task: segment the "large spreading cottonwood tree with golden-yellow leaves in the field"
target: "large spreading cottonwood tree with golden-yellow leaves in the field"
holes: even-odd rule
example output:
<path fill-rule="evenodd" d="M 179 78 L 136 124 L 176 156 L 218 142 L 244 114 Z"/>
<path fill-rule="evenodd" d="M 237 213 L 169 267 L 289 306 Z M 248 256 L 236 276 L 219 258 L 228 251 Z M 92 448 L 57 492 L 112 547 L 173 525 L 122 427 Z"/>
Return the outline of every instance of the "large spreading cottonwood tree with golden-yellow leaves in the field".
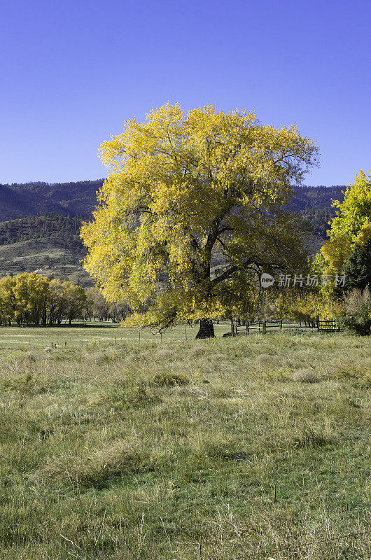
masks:
<path fill-rule="evenodd" d="M 85 269 L 137 311 L 130 324 L 200 320 L 199 336 L 213 335 L 211 318 L 248 311 L 253 271 L 302 261 L 285 209 L 317 153 L 295 126 L 253 112 L 166 104 L 129 120 L 101 148 L 110 174 L 82 228 Z"/>

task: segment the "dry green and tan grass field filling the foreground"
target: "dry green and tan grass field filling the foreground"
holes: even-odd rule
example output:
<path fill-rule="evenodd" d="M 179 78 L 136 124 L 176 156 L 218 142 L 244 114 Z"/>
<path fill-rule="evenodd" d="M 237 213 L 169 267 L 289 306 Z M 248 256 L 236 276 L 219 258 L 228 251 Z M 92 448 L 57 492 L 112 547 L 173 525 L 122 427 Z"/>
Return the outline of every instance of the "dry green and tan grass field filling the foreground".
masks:
<path fill-rule="evenodd" d="M 0 559 L 370 558 L 370 338 L 3 343 L 0 360 Z"/>

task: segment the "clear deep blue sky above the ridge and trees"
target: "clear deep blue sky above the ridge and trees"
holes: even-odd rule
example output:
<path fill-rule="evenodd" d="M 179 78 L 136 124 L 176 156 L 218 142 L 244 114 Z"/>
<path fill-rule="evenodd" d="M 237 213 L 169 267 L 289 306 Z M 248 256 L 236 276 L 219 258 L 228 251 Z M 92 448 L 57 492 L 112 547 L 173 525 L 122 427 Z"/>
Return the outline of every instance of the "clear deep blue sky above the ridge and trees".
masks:
<path fill-rule="evenodd" d="M 1 7 L 0 183 L 106 176 L 153 106 L 255 109 L 318 141 L 312 185 L 371 168 L 369 0 L 13 0 Z"/>

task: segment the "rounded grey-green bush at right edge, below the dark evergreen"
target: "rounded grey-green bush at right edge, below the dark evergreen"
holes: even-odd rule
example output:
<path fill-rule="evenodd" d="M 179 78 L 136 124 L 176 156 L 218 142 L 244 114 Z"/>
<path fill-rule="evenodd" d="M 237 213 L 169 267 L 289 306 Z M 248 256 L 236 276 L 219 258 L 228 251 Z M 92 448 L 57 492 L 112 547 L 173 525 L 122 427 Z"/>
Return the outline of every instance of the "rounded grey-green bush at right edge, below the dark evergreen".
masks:
<path fill-rule="evenodd" d="M 371 331 L 371 292 L 353 289 L 344 299 L 339 323 L 356 335 L 370 335 Z"/>

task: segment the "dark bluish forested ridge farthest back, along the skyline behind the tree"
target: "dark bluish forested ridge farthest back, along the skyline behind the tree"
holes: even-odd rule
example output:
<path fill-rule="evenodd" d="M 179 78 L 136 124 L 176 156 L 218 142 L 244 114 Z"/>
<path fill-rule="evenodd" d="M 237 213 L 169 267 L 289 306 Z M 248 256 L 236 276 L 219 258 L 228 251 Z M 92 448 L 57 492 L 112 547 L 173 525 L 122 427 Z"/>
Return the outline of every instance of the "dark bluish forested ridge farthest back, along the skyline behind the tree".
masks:
<path fill-rule="evenodd" d="M 0 221 L 54 212 L 62 216 L 88 216 L 97 202 L 103 179 L 76 183 L 13 183 L 0 185 Z M 331 199 L 342 200 L 345 186 L 297 187 L 291 209 L 314 212 L 329 209 Z"/>

